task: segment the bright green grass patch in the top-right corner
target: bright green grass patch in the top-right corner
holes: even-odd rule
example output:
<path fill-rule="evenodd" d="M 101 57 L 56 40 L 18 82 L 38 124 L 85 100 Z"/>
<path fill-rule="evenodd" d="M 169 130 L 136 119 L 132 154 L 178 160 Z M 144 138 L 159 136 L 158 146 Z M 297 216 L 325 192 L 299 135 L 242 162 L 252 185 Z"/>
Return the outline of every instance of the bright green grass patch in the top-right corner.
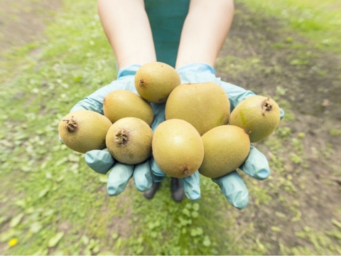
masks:
<path fill-rule="evenodd" d="M 300 33 L 315 47 L 341 53 L 341 3 L 337 0 L 237 0 L 250 11 L 277 18 L 287 31 Z M 293 43 L 293 38 L 286 42 Z M 277 45 L 280 47 L 280 45 Z"/>

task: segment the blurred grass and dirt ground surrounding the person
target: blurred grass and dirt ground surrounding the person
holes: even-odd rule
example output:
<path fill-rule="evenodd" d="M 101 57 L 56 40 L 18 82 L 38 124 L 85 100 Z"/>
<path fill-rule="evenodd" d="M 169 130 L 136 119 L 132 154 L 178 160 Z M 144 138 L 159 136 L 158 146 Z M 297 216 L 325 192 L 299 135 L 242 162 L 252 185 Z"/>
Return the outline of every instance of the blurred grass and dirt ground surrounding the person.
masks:
<path fill-rule="evenodd" d="M 255 144 L 271 176 L 242 174 L 237 210 L 202 177 L 175 203 L 170 179 L 147 201 L 58 141 L 76 102 L 117 75 L 96 1 L 0 1 L 1 255 L 340 255 L 341 2 L 236 0 L 217 60 L 226 82 L 286 112 Z"/>

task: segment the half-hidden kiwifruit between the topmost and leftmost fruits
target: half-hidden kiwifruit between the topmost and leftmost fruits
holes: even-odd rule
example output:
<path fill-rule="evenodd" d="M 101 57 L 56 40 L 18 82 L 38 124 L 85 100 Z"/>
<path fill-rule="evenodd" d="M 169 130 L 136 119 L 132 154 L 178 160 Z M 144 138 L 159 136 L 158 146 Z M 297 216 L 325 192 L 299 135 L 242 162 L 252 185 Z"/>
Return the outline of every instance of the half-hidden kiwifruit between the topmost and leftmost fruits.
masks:
<path fill-rule="evenodd" d="M 104 115 L 112 123 L 124 117 L 136 117 L 148 125 L 153 122 L 153 108 L 139 95 L 128 90 L 115 90 L 104 98 Z"/>

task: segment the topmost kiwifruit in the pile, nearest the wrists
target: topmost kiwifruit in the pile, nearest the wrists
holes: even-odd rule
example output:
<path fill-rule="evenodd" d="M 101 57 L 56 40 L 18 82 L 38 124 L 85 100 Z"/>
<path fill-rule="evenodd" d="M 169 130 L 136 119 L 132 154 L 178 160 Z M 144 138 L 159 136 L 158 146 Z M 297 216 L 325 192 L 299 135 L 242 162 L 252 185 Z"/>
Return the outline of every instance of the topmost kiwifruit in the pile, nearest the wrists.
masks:
<path fill-rule="evenodd" d="M 135 87 L 139 95 L 154 103 L 166 102 L 171 91 L 180 85 L 180 75 L 166 63 L 146 63 L 137 70 Z"/>

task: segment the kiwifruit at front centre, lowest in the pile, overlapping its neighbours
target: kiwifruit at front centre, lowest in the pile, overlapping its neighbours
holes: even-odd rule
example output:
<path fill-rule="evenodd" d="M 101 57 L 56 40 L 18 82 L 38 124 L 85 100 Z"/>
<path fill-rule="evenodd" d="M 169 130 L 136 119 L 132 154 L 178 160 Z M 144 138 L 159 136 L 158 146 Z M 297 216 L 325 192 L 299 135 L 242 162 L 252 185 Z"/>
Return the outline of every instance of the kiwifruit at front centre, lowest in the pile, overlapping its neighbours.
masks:
<path fill-rule="evenodd" d="M 200 134 L 192 124 L 171 119 L 156 127 L 153 156 L 158 167 L 167 175 L 185 178 L 199 168 L 204 158 Z"/>

